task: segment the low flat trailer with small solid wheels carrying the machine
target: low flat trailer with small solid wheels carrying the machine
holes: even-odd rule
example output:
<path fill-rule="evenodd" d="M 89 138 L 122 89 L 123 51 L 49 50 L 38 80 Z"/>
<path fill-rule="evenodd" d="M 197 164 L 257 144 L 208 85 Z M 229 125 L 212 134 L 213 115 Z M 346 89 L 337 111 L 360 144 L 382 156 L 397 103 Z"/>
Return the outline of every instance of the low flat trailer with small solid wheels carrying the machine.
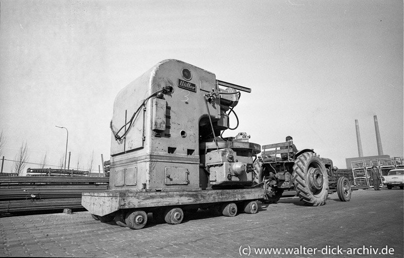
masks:
<path fill-rule="evenodd" d="M 91 207 L 93 218 L 115 222 L 132 229 L 143 228 L 147 213 L 158 223 L 179 224 L 184 212 L 210 209 L 217 215 L 233 217 L 237 212 L 255 214 L 256 200 L 263 199 L 262 187 L 221 190 L 109 191 L 83 193 L 82 205 Z M 95 205 L 94 205 L 95 204 Z M 98 214 L 98 215 L 95 215 Z"/>

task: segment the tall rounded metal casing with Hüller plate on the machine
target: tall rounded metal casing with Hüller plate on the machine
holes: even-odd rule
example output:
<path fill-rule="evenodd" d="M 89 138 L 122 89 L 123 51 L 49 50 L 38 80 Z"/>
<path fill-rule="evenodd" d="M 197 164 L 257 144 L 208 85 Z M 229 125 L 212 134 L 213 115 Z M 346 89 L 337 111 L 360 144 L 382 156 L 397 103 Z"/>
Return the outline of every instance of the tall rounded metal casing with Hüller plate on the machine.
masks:
<path fill-rule="evenodd" d="M 112 127 L 117 131 L 145 99 L 167 87 L 173 91 L 149 98 L 122 130 L 128 132 L 121 141 L 112 135 L 110 189 L 208 186 L 209 171 L 200 168 L 200 131 L 211 129 L 209 114 L 215 130 L 228 128 L 226 111 L 238 100 L 228 94 L 207 102 L 204 95 L 219 90 L 215 74 L 179 60 L 159 62 L 118 93 Z M 240 180 L 252 182 L 245 173 L 230 181 Z"/>

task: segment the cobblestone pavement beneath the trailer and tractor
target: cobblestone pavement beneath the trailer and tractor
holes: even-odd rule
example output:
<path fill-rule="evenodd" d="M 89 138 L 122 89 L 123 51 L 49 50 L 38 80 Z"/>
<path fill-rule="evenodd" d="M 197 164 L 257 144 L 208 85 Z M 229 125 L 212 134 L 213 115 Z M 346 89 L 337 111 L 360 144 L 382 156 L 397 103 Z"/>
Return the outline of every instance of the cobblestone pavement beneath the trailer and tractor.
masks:
<path fill-rule="evenodd" d="M 321 207 L 283 198 L 254 215 L 199 210 L 178 225 L 156 224 L 149 214 L 141 230 L 95 221 L 88 212 L 5 217 L 0 256 L 403 257 L 403 193 L 356 190 L 350 202 L 333 193 Z"/>

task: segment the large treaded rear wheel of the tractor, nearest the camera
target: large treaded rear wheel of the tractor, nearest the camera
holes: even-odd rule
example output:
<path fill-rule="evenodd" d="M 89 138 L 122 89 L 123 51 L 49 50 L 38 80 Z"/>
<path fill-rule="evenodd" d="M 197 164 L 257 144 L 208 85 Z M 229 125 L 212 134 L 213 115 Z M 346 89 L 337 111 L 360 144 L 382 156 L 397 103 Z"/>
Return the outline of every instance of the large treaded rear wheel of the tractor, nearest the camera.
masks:
<path fill-rule="evenodd" d="M 328 197 L 328 174 L 321 159 L 313 152 L 297 157 L 293 165 L 294 189 L 300 201 L 310 206 L 324 205 Z"/>

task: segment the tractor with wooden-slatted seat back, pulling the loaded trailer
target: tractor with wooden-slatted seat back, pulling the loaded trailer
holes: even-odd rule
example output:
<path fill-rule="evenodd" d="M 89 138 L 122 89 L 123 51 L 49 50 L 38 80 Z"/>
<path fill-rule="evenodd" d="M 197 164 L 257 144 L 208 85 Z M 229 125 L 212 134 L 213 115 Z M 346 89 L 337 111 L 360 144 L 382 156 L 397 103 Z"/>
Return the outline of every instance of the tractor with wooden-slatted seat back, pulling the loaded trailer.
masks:
<path fill-rule="evenodd" d="M 264 145 L 254 162 L 256 183 L 265 188 L 264 203 L 278 202 L 285 189 L 295 189 L 309 206 L 324 205 L 328 194 L 335 191 L 341 201 L 350 200 L 350 182 L 335 176 L 338 168 L 331 159 L 320 158 L 312 149 L 294 152 L 292 146 L 291 141 Z"/>

